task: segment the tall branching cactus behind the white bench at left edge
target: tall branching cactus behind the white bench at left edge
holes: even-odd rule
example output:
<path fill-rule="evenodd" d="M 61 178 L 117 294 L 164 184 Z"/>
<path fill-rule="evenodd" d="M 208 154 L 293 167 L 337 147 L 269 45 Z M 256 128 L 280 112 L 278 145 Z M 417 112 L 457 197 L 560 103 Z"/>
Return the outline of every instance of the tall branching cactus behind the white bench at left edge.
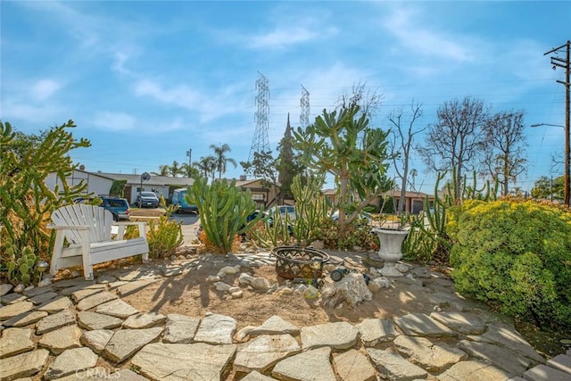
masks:
<path fill-rule="evenodd" d="M 86 182 L 70 186 L 66 181 L 79 165 L 71 162 L 70 151 L 90 145 L 85 139 L 75 140 L 67 131 L 74 127 L 69 120 L 39 137 L 24 137 L 13 131 L 10 123 L 0 121 L 0 224 L 3 241 L 9 238 L 17 252 L 30 246 L 38 255 L 49 255 L 55 236 L 46 229 L 51 212 L 87 189 Z M 50 174 L 57 178 L 54 190 L 46 185 Z M 4 254 L 1 245 L 2 261 L 10 258 Z"/>

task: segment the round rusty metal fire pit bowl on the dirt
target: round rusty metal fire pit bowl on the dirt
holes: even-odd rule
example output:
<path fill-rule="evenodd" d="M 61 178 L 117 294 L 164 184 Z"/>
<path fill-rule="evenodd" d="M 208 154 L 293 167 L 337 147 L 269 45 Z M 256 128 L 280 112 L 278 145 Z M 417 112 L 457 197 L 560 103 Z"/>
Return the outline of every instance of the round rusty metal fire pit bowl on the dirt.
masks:
<path fill-rule="evenodd" d="M 278 246 L 271 249 L 276 256 L 276 272 L 285 279 L 321 277 L 329 255 L 310 247 Z"/>

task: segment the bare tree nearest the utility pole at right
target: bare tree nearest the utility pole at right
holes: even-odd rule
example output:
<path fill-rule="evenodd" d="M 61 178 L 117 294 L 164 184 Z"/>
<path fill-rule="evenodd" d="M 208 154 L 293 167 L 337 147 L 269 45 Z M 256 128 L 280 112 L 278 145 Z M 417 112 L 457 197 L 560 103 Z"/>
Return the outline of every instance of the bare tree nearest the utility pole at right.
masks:
<path fill-rule="evenodd" d="M 509 194 L 510 182 L 525 171 L 524 112 L 498 112 L 484 124 L 484 173 Z"/>

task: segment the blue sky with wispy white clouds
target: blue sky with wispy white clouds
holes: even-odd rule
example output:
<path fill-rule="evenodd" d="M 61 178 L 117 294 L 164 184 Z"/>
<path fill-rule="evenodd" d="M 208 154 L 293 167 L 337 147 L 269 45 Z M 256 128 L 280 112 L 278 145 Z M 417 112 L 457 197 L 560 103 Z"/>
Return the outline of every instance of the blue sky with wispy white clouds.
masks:
<path fill-rule="evenodd" d="M 269 145 L 287 113 L 310 121 L 365 83 L 383 96 L 371 126 L 421 104 L 418 128 L 444 102 L 471 96 L 492 112 L 525 112 L 525 125 L 565 123 L 564 70 L 543 54 L 571 38 L 571 2 L 4 1 L 0 119 L 26 133 L 78 125 L 92 143 L 72 152 L 86 170 L 157 171 L 228 144 L 248 159 L 256 80 L 269 79 Z M 530 189 L 563 155 L 563 129 L 526 127 Z M 422 143 L 422 137 L 418 137 Z M 434 173 L 417 155 L 415 185 Z M 229 167 L 227 177 L 242 168 Z"/>

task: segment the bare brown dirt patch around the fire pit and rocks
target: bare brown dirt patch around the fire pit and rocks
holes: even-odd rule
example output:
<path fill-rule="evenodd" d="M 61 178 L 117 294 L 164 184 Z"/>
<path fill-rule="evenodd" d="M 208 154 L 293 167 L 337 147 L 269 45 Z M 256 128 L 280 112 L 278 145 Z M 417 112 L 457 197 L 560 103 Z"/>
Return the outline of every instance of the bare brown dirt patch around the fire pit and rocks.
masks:
<path fill-rule="evenodd" d="M 391 319 L 408 312 L 431 311 L 431 304 L 405 292 L 396 286 L 373 294 L 371 302 L 361 303 L 357 308 L 343 307 L 325 310 L 315 300 L 308 300 L 299 292 L 266 294 L 242 287 L 244 296 L 232 299 L 228 293 L 217 291 L 206 278 L 216 275 L 224 266 L 204 266 L 186 275 L 165 278 L 145 287 L 124 300 L 140 311 L 157 311 L 163 315 L 181 313 L 202 317 L 207 311 L 231 316 L 238 322 L 238 329 L 248 325 L 259 326 L 266 319 L 278 315 L 282 319 L 303 327 L 334 321 L 360 322 L 367 318 Z M 275 266 L 246 269 L 254 277 L 264 277 L 269 283 L 284 285 L 286 279 L 277 277 Z M 239 274 L 224 277 L 228 285 L 238 286 Z"/>

